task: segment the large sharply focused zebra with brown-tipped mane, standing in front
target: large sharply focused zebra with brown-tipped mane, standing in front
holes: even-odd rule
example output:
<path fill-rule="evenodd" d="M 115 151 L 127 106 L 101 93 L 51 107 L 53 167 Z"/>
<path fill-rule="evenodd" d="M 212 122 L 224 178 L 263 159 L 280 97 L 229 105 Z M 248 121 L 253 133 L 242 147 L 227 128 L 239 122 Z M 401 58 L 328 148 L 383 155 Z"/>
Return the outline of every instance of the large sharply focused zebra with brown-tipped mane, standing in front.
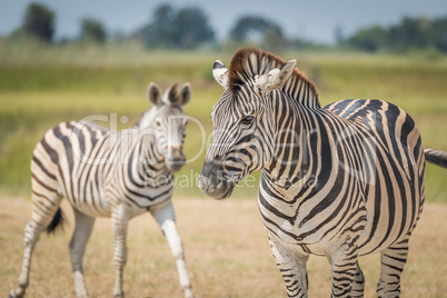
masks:
<path fill-rule="evenodd" d="M 413 119 L 380 100 L 321 108 L 315 85 L 271 53 L 247 48 L 229 69 L 212 109 L 212 140 L 200 173 L 213 198 L 261 170 L 259 211 L 289 297 L 307 297 L 309 255 L 331 265 L 331 297 L 362 297 L 358 257 L 380 252 L 379 297 L 398 297 L 408 239 L 424 205 L 424 149 Z"/>

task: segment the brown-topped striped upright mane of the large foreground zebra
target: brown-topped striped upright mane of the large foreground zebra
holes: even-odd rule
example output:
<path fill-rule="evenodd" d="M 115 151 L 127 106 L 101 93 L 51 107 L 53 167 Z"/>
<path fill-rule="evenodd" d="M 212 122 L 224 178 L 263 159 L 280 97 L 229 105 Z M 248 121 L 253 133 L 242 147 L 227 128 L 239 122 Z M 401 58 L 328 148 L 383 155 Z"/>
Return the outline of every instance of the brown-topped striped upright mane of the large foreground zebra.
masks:
<path fill-rule="evenodd" d="M 244 48 L 235 53 L 228 69 L 228 88 L 231 92 L 240 85 L 286 63 L 281 58 L 257 48 Z M 304 88 L 305 87 L 305 88 Z M 281 90 L 304 106 L 319 108 L 317 87 L 297 68 Z"/>

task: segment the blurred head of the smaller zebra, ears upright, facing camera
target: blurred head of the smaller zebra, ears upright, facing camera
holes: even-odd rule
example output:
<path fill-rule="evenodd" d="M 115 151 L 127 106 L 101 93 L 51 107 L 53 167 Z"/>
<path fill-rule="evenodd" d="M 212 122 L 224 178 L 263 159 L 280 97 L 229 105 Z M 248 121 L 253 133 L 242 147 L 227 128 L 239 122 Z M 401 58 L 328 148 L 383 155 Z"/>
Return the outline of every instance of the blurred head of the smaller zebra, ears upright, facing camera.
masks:
<path fill-rule="evenodd" d="M 140 119 L 140 129 L 150 128 L 156 138 L 156 150 L 165 157 L 168 169 L 178 171 L 185 165 L 182 152 L 187 118 L 182 107 L 191 99 L 192 90 L 185 83 L 180 90 L 177 83 L 161 93 L 160 88 L 151 82 L 148 87 L 148 99 L 152 103 Z"/>

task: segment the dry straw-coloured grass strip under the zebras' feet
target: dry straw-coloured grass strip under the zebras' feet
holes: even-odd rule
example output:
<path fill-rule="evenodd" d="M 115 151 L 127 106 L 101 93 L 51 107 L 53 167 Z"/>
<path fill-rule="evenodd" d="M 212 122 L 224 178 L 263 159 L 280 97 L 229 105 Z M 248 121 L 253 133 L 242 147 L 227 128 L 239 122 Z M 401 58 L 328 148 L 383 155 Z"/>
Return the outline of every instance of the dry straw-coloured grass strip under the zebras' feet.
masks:
<path fill-rule="evenodd" d="M 270 256 L 257 201 L 175 199 L 179 230 L 197 297 L 284 297 L 281 277 Z M 42 236 L 36 249 L 28 297 L 72 297 L 66 234 Z M 16 286 L 21 264 L 23 227 L 31 203 L 23 198 L 0 197 L 0 296 Z M 181 297 L 175 261 L 150 216 L 130 222 L 129 260 L 125 274 L 127 297 Z M 446 297 L 447 206 L 427 203 L 410 241 L 410 257 L 403 277 L 403 297 Z M 112 237 L 109 219 L 98 219 L 89 241 L 85 271 L 92 297 L 110 297 L 113 285 Z M 360 259 L 366 276 L 365 297 L 375 297 L 379 258 Z M 327 260 L 308 264 L 310 297 L 329 297 Z"/>

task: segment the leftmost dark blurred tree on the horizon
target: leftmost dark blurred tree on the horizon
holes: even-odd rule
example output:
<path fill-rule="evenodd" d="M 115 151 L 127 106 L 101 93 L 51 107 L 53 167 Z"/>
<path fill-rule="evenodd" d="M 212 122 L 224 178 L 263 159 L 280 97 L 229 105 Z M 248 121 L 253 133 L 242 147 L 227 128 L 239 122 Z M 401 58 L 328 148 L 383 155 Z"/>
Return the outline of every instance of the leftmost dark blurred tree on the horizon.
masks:
<path fill-rule="evenodd" d="M 43 4 L 30 3 L 24 13 L 22 31 L 27 36 L 51 42 L 54 34 L 54 13 Z"/>

